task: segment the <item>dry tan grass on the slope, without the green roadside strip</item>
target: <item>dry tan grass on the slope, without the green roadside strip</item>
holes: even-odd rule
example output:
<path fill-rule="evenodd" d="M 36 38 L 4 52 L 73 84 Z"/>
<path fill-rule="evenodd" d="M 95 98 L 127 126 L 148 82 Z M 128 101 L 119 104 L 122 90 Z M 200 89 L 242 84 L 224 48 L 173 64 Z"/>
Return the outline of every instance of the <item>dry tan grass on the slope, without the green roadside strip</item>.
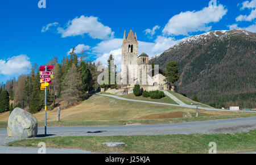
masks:
<path fill-rule="evenodd" d="M 64 105 L 64 103 L 61 103 Z M 88 100 L 68 109 L 61 110 L 62 121 L 106 121 L 138 119 L 171 119 L 182 117 L 184 112 L 193 116 L 195 109 L 172 107 L 170 105 L 137 103 L 93 95 Z M 218 112 L 199 110 L 201 116 L 225 116 L 242 112 Z M 10 113 L 0 114 L 0 121 L 8 121 Z M 44 121 L 44 111 L 34 114 L 38 121 Z M 47 111 L 47 121 L 56 121 L 57 108 Z"/>

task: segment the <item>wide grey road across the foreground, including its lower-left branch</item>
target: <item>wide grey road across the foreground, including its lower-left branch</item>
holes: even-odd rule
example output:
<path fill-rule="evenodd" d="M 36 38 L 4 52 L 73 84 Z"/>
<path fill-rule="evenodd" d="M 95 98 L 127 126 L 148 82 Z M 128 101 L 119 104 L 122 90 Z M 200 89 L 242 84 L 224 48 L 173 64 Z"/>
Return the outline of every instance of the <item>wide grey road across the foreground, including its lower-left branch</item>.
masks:
<path fill-rule="evenodd" d="M 164 134 L 212 134 L 241 133 L 256 129 L 256 117 L 226 119 L 213 121 L 184 122 L 177 124 L 130 125 L 130 126 L 76 126 L 48 128 L 48 137 L 66 136 L 134 136 L 134 135 L 164 135 Z M 38 129 L 38 137 L 44 137 L 44 128 Z M 0 145 L 6 145 L 18 138 L 9 138 L 6 129 L 0 129 Z M 42 140 L 43 141 L 43 140 Z M 37 153 L 30 148 L 13 148 L 0 146 L 0 153 Z M 49 150 L 47 153 L 90 153 L 81 150 Z"/>

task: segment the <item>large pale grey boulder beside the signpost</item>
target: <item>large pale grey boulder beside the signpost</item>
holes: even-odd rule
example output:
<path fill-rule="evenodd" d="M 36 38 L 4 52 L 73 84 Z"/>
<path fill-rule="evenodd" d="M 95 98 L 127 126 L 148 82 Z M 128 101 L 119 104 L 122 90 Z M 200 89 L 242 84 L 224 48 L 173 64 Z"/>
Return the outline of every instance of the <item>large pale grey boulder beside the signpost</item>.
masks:
<path fill-rule="evenodd" d="M 9 137 L 36 137 L 38 134 L 38 121 L 27 111 L 15 108 L 9 116 L 7 133 Z"/>

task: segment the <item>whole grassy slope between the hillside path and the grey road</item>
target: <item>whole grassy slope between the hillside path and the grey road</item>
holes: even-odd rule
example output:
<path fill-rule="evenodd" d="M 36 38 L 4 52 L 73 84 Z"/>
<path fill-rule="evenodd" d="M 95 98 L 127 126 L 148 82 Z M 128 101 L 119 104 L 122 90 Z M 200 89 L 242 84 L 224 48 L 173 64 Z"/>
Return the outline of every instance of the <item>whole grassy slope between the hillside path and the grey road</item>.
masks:
<path fill-rule="evenodd" d="M 192 118 L 183 118 L 189 112 Z M 118 100 L 106 96 L 93 95 L 81 104 L 61 110 L 61 121 L 56 121 L 57 110 L 47 112 L 48 126 L 87 126 L 87 125 L 130 125 L 167 124 L 175 122 L 231 119 L 256 116 L 256 113 L 218 112 L 174 107 L 170 105 L 147 104 Z M 10 113 L 0 114 L 0 128 L 6 128 Z M 34 114 L 39 126 L 44 126 L 44 111 Z"/>

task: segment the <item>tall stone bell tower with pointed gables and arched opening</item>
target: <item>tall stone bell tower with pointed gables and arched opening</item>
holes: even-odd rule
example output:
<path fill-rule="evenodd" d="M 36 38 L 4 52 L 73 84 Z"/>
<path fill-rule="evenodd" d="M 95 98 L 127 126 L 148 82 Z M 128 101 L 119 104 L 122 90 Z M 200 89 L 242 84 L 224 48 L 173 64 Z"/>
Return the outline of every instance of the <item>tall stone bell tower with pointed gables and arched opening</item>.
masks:
<path fill-rule="evenodd" d="M 122 84 L 127 86 L 131 82 L 134 84 L 137 80 L 137 67 L 138 67 L 138 41 L 137 35 L 132 30 L 123 35 L 122 44 L 122 68 L 121 68 L 121 79 Z M 130 76 L 129 76 L 130 75 Z M 130 82 L 130 83 L 129 83 Z"/>

